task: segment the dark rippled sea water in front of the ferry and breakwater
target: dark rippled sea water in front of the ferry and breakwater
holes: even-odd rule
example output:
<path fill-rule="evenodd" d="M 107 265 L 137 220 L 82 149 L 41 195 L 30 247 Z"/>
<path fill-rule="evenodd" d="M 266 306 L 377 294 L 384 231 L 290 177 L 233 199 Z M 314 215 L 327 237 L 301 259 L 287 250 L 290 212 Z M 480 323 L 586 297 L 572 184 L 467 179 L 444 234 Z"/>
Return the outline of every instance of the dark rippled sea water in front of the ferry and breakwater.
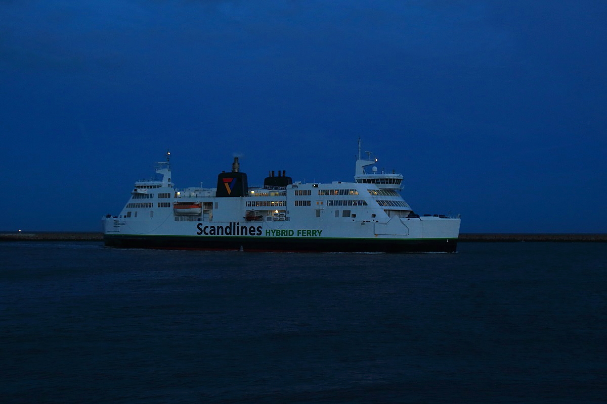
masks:
<path fill-rule="evenodd" d="M 0 243 L 1 403 L 605 403 L 607 244 Z"/>

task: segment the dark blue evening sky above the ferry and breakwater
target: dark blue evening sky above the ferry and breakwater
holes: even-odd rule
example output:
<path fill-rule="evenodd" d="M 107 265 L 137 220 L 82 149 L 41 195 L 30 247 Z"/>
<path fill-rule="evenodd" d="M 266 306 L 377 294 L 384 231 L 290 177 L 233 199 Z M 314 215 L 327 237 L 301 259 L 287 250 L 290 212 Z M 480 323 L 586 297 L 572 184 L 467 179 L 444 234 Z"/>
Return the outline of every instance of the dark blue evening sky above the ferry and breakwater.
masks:
<path fill-rule="evenodd" d="M 461 231 L 605 233 L 607 2 L 0 0 L 0 230 L 177 187 L 351 180 L 356 142 Z"/>

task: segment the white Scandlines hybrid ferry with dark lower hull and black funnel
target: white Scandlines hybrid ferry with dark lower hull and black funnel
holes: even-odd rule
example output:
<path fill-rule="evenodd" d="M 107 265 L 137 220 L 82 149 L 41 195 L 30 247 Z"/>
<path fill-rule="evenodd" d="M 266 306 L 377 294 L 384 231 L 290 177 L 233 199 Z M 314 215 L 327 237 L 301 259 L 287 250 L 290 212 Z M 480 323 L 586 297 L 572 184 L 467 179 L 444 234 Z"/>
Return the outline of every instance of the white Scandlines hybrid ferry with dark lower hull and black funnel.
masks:
<path fill-rule="evenodd" d="M 170 153 L 153 180 L 135 182 L 118 216 L 103 217 L 115 248 L 337 253 L 455 253 L 460 218 L 416 214 L 400 192 L 404 177 L 379 171 L 361 141 L 354 182 L 293 181 L 269 171 L 249 186 L 239 157 L 214 188 L 175 188 Z"/>

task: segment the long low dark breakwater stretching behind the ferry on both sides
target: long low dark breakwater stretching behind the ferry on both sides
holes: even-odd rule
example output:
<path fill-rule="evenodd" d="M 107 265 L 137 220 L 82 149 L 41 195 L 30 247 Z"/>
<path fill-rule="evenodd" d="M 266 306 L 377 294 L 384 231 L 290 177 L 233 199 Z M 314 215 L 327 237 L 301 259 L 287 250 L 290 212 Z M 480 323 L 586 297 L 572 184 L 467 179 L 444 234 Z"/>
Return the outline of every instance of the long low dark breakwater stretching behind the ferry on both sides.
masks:
<path fill-rule="evenodd" d="M 100 232 L 5 232 L 0 241 L 97 241 L 103 240 Z M 539 234 L 539 233 L 463 233 L 459 242 L 607 242 L 606 234 Z"/>

